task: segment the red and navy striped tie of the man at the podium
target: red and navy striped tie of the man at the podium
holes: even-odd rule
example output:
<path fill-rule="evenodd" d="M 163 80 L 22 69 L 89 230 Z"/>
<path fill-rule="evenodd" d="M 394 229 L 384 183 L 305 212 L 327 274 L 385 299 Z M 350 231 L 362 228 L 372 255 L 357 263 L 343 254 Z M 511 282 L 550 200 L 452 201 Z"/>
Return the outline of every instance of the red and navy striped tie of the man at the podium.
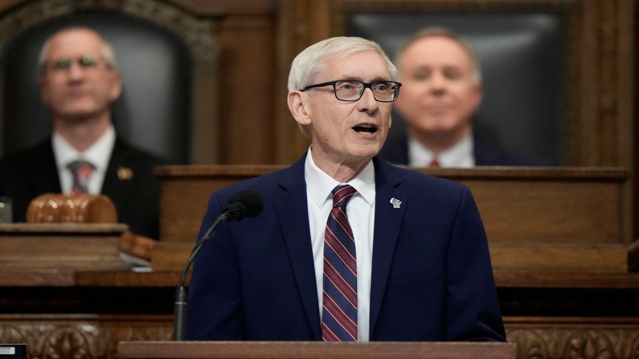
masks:
<path fill-rule="evenodd" d="M 350 185 L 333 190 L 333 209 L 324 234 L 324 288 L 321 337 L 327 342 L 357 341 L 357 260 L 346 204 Z"/>

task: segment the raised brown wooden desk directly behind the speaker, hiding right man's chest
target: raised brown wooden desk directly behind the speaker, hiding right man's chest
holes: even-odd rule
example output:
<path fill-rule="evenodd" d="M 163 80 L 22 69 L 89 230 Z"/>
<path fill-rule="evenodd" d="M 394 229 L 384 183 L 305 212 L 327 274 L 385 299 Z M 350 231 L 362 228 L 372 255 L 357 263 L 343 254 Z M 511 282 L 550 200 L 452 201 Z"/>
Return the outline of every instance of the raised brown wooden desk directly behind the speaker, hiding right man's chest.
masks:
<path fill-rule="evenodd" d="M 160 246 L 183 263 L 210 195 L 277 165 L 188 165 L 155 169 L 160 178 Z M 619 168 L 476 167 L 414 169 L 465 184 L 481 213 L 496 270 L 626 272 L 639 248 L 632 238 L 628 172 Z M 165 244 L 166 243 L 166 244 Z M 175 254 L 178 253 L 178 256 Z M 162 268 L 170 268 L 171 263 Z"/>

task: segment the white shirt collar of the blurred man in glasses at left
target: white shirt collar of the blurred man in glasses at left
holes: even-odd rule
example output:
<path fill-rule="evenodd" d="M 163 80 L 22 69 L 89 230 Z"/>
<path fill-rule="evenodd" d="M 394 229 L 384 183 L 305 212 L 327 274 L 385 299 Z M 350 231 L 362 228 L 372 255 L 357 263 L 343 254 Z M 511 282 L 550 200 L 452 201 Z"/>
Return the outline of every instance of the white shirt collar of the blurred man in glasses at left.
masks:
<path fill-rule="evenodd" d="M 53 133 L 51 142 L 58 169 L 66 168 L 66 165 L 75 160 L 86 160 L 91 162 L 96 170 L 106 171 L 116 142 L 116 132 L 113 125 L 109 125 L 102 137 L 82 152 L 75 149 L 58 132 Z"/>

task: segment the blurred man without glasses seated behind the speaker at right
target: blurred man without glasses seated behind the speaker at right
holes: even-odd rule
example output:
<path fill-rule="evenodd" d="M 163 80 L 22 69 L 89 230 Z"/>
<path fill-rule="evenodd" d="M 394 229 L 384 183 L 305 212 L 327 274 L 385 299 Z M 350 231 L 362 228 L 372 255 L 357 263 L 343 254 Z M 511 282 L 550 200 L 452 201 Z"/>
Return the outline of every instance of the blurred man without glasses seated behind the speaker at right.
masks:
<path fill-rule="evenodd" d="M 380 157 L 414 167 L 549 165 L 502 148 L 473 124 L 482 100 L 481 70 L 468 43 L 445 27 L 418 31 L 396 57 L 405 131 L 389 136 Z"/>

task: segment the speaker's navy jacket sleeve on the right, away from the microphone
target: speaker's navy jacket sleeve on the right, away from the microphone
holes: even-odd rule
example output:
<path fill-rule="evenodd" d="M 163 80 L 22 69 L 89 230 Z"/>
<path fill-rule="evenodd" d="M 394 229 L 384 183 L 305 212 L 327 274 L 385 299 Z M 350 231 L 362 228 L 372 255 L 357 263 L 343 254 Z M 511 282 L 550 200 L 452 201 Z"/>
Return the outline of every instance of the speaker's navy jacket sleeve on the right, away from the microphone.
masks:
<path fill-rule="evenodd" d="M 505 341 L 486 232 L 466 187 L 447 257 L 446 340 Z"/>

